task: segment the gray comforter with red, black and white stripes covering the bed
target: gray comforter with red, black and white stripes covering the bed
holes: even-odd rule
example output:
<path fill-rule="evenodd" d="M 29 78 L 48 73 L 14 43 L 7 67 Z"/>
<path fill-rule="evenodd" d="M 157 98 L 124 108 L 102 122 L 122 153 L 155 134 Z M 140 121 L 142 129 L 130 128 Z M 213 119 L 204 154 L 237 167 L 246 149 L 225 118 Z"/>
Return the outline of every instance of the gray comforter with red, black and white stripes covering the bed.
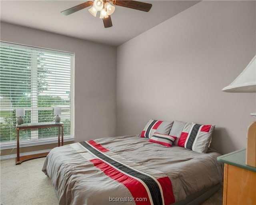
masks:
<path fill-rule="evenodd" d="M 56 147 L 42 171 L 60 205 L 198 204 L 222 182 L 219 155 L 126 135 Z"/>

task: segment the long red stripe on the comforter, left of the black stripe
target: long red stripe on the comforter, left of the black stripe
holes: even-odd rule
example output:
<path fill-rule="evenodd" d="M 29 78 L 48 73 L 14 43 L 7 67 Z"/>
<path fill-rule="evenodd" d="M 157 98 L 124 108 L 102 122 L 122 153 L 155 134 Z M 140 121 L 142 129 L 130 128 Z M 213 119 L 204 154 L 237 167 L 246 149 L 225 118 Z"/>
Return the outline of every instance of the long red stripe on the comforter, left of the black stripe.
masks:
<path fill-rule="evenodd" d="M 92 162 L 94 166 L 98 167 L 110 178 L 125 185 L 135 200 L 136 198 L 146 198 L 146 201 L 135 201 L 136 205 L 150 205 L 148 193 L 140 181 L 116 170 L 114 167 L 108 165 L 100 159 L 92 159 L 90 162 Z"/>

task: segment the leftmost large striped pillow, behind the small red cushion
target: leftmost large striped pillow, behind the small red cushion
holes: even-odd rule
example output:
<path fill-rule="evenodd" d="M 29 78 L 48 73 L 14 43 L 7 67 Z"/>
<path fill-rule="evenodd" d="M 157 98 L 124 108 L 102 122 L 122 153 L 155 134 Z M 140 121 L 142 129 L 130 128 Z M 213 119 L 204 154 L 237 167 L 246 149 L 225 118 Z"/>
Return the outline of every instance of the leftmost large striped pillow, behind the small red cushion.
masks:
<path fill-rule="evenodd" d="M 151 138 L 154 132 L 168 135 L 172 128 L 173 121 L 161 121 L 150 119 L 144 129 L 142 130 L 140 137 Z"/>

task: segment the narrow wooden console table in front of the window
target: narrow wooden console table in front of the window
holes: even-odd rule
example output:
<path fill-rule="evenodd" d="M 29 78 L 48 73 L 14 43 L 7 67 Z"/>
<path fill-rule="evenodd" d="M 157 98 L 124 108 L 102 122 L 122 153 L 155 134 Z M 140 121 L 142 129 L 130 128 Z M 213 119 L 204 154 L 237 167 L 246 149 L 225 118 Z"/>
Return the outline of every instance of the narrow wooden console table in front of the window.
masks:
<path fill-rule="evenodd" d="M 61 127 L 61 145 L 63 146 L 63 124 L 62 122 L 42 122 L 42 123 L 28 123 L 22 125 L 16 125 L 17 130 L 17 157 L 16 157 L 16 165 L 21 164 L 24 161 L 28 161 L 30 159 L 36 159 L 40 157 L 46 157 L 48 152 L 39 153 L 34 155 L 27 155 L 20 157 L 20 130 L 21 129 L 38 129 L 38 128 L 48 128 L 48 127 L 58 127 L 58 147 L 60 146 L 60 127 Z"/>

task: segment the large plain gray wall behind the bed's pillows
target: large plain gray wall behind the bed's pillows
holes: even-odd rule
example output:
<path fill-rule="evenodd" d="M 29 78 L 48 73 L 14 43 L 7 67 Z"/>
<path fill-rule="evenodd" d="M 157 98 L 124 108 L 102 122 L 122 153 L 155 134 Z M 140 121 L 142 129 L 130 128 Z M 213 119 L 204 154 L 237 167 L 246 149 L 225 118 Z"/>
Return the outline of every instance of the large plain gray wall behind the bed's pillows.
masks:
<path fill-rule="evenodd" d="M 117 50 L 117 134 L 148 119 L 215 124 L 211 147 L 246 147 L 255 94 L 222 92 L 256 54 L 255 1 L 203 1 Z"/>

